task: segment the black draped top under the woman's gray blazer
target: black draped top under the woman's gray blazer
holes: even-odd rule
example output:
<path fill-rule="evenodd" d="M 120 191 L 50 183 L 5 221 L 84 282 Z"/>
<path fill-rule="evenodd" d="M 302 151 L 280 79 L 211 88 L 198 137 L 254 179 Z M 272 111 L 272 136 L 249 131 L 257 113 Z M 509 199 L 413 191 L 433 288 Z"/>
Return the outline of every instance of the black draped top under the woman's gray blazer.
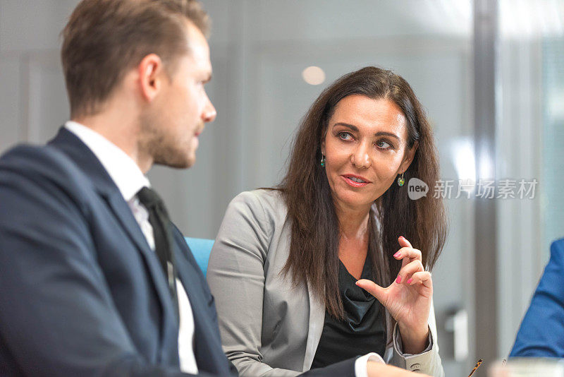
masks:
<path fill-rule="evenodd" d="M 372 263 L 367 256 L 362 268 L 362 279 L 374 280 Z M 325 313 L 323 332 L 315 352 L 312 369 L 321 368 L 376 352 L 384 357 L 386 350 L 386 325 L 384 307 L 364 289 L 357 287 L 357 280 L 339 261 L 339 291 L 345 309 L 344 321 Z"/>

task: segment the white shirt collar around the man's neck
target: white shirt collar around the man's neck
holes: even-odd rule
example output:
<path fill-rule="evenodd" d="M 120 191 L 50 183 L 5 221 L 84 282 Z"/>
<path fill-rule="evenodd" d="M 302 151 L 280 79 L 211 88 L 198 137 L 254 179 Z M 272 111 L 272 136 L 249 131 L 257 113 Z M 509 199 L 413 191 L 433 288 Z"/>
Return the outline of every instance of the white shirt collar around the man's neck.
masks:
<path fill-rule="evenodd" d="M 92 128 L 75 121 L 67 121 L 65 128 L 75 134 L 96 155 L 106 172 L 118 186 L 125 201 L 129 202 L 143 186 L 150 187 L 149 179 L 139 166 L 117 145 Z"/>

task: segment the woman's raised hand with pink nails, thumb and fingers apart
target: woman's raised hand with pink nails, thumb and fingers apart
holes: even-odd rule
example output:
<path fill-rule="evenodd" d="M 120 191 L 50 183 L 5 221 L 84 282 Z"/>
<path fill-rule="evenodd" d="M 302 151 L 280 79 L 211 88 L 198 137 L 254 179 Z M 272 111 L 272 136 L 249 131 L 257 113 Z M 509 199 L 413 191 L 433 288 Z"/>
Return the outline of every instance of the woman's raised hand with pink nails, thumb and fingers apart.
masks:
<path fill-rule="evenodd" d="M 357 286 L 366 289 L 376 297 L 398 322 L 403 343 L 403 352 L 419 354 L 428 345 L 429 311 L 433 297 L 433 281 L 431 273 L 425 271 L 421 251 L 413 249 L 410 241 L 399 237 L 401 249 L 394 258 L 401 260 L 400 273 L 387 288 L 361 279 Z"/>

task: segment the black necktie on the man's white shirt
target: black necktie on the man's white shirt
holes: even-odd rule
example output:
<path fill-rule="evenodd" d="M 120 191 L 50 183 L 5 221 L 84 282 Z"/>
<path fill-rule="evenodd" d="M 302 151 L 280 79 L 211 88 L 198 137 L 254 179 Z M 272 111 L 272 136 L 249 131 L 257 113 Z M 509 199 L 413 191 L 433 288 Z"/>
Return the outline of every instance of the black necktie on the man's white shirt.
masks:
<path fill-rule="evenodd" d="M 151 188 L 143 187 L 137 192 L 137 198 L 149 213 L 149 223 L 153 227 L 154 249 L 168 282 L 172 301 L 178 318 L 178 297 L 176 296 L 176 268 L 174 268 L 174 254 L 172 249 L 171 220 L 161 197 Z"/>

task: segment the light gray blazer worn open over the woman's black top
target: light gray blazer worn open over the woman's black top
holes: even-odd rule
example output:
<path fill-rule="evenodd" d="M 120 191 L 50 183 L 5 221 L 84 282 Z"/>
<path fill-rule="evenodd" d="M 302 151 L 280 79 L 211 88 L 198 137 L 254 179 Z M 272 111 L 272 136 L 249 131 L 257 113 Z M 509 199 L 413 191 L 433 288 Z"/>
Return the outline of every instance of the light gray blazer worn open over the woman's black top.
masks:
<path fill-rule="evenodd" d="M 311 368 L 325 319 L 324 302 L 281 270 L 290 221 L 279 191 L 240 193 L 228 205 L 209 258 L 223 351 L 240 376 L 297 376 Z M 400 368 L 444 376 L 434 311 L 429 347 L 403 354 L 397 326 L 384 359 Z"/>

